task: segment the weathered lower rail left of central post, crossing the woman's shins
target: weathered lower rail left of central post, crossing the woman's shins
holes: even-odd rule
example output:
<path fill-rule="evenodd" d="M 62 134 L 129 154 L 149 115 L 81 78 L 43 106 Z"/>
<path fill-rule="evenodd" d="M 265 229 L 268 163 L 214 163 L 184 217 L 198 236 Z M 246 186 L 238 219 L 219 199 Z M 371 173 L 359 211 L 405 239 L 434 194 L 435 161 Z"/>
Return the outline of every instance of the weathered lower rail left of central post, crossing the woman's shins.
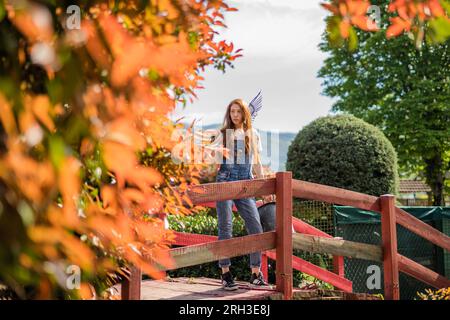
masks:
<path fill-rule="evenodd" d="M 169 254 L 174 260 L 174 265 L 166 270 L 190 267 L 252 252 L 270 250 L 275 248 L 275 238 L 275 232 L 271 231 L 170 249 Z M 163 267 L 160 268 L 164 269 Z"/>

